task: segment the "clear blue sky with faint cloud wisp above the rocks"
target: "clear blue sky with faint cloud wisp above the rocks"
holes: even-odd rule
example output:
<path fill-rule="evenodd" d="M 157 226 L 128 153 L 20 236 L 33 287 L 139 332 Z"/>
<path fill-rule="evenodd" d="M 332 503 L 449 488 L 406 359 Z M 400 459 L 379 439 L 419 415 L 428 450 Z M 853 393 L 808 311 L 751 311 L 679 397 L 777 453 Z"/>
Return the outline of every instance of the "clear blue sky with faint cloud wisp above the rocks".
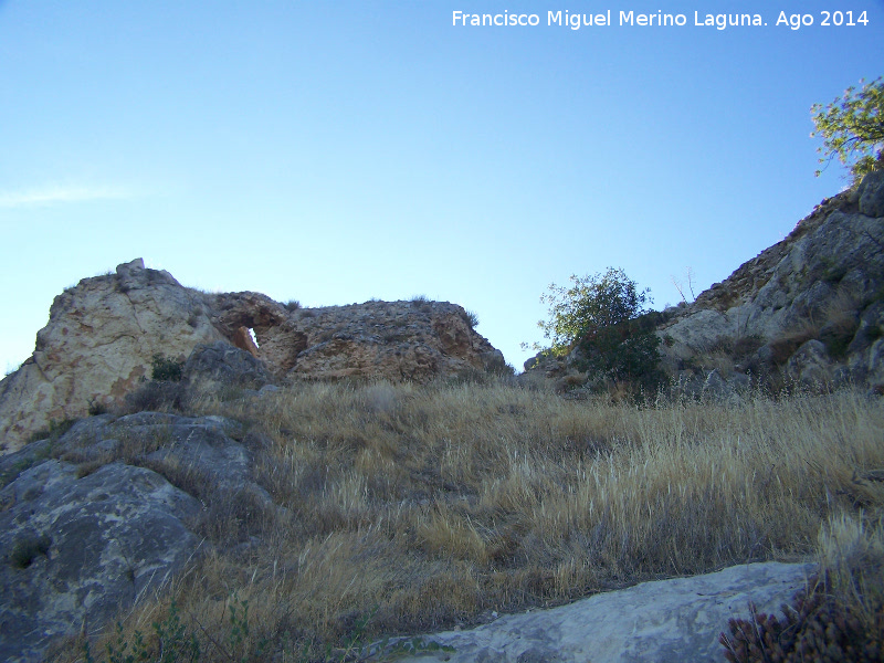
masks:
<path fill-rule="evenodd" d="M 452 25 L 504 10 L 539 24 Z M 455 302 L 520 368 L 549 283 L 622 267 L 660 309 L 788 234 L 844 185 L 813 177 L 810 106 L 882 74 L 882 0 L 0 0 L 0 368 L 139 256 L 308 306 Z"/>

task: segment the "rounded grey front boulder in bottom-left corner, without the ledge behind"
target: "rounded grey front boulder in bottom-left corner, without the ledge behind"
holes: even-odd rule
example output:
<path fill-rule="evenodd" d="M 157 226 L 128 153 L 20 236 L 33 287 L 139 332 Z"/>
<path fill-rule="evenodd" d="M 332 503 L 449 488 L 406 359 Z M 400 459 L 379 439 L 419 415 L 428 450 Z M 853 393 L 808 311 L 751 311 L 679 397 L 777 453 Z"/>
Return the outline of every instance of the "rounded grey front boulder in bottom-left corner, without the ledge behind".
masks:
<path fill-rule="evenodd" d="M 41 661 L 161 587 L 198 550 L 200 509 L 156 472 L 123 463 L 80 477 L 56 460 L 0 491 L 0 659 Z"/>

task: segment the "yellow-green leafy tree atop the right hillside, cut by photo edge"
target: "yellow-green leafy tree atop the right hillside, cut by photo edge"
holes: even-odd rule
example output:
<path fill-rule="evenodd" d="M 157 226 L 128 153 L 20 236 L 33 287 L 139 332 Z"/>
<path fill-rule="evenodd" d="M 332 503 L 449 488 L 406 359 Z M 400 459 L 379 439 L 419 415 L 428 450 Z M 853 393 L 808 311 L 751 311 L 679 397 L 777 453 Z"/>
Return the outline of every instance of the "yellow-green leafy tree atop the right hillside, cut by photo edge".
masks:
<path fill-rule="evenodd" d="M 822 136 L 825 148 L 817 150 L 823 155 L 820 164 L 838 157 L 850 168 L 853 185 L 866 173 L 884 169 L 884 76 L 865 83 L 859 92 L 848 87 L 843 97 L 828 106 L 813 104 L 810 112 L 817 126 L 811 137 Z"/>

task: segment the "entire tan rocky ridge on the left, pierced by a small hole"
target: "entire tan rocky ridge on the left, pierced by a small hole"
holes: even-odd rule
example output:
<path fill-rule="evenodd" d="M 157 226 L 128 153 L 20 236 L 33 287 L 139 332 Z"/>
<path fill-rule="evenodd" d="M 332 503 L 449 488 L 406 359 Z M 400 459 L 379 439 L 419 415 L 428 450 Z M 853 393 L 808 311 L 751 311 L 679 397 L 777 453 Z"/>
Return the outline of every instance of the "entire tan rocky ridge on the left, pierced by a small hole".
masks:
<path fill-rule="evenodd" d="M 139 259 L 55 297 L 33 355 L 0 382 L 0 449 L 21 448 L 52 422 L 122 404 L 150 378 L 157 355 L 183 361 L 218 343 L 252 355 L 272 382 L 425 382 L 506 369 L 499 350 L 473 330 L 470 315 L 448 302 L 284 306 L 259 293 L 183 287 Z"/>

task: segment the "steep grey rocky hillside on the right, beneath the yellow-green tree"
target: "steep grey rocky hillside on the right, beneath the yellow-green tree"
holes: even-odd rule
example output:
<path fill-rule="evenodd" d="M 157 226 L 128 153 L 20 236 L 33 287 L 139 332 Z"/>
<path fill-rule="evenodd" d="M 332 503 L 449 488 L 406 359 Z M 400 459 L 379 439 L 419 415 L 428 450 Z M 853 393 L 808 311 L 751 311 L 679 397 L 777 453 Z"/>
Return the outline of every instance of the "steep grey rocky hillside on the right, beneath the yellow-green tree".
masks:
<path fill-rule="evenodd" d="M 681 393 L 884 390 L 884 171 L 824 200 L 785 240 L 660 317 L 663 366 Z M 576 358 L 533 358 L 526 368 L 567 389 L 592 380 Z"/>

